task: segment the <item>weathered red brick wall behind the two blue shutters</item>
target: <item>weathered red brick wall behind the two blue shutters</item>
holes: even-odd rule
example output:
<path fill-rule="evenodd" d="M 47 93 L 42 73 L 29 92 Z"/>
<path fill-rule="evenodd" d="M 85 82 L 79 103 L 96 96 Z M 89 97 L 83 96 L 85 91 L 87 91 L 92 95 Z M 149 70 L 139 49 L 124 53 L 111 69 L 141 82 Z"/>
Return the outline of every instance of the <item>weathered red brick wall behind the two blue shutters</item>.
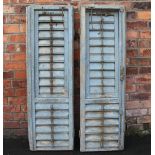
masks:
<path fill-rule="evenodd" d="M 78 1 L 78 0 L 4 0 L 4 135 L 27 135 L 25 23 L 26 6 L 31 4 L 72 3 L 74 5 L 74 113 L 79 130 L 79 29 L 78 6 L 82 3 L 121 4 L 127 10 L 127 132 L 143 133 L 150 129 L 150 7 L 143 1 Z"/>

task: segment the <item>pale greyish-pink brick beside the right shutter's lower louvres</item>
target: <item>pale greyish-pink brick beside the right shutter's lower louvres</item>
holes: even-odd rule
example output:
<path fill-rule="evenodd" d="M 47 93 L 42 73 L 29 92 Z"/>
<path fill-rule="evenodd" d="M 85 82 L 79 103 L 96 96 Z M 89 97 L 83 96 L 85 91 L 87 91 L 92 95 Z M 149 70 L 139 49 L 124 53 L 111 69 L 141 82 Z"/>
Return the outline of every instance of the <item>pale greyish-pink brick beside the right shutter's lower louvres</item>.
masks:
<path fill-rule="evenodd" d="M 134 116 L 143 116 L 147 114 L 147 109 L 132 109 L 126 110 L 127 117 L 134 117 Z"/>

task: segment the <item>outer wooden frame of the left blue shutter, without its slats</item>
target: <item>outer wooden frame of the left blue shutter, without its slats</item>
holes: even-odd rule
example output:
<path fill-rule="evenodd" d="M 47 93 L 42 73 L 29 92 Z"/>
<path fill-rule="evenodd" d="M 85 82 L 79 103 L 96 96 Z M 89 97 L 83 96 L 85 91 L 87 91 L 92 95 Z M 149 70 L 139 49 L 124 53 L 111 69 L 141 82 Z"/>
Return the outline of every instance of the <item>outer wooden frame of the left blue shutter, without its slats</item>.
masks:
<path fill-rule="evenodd" d="M 48 11 L 48 10 L 57 10 L 60 8 L 65 8 L 67 10 L 67 24 L 68 24 L 68 30 L 67 30 L 67 36 L 68 36 L 68 48 L 67 52 L 68 58 L 66 60 L 67 63 L 64 63 L 64 65 L 67 65 L 67 72 L 70 73 L 70 76 L 68 76 L 68 96 L 64 97 L 47 97 L 47 98 L 40 98 L 36 96 L 36 84 L 35 84 L 35 37 L 34 31 L 35 27 L 34 24 L 38 21 L 35 21 L 35 11 L 41 10 L 41 11 Z M 28 106 L 28 137 L 29 137 L 29 146 L 30 150 L 36 151 L 36 150 L 72 150 L 73 149 L 73 137 L 74 137 L 74 130 L 73 130 L 73 8 L 72 6 L 67 5 L 31 5 L 26 8 L 26 14 L 27 14 L 27 31 L 26 31 L 26 65 L 27 65 L 27 106 Z M 65 21 L 64 21 L 65 22 Z M 39 29 L 38 29 L 39 30 Z M 66 31 L 64 30 L 64 33 Z M 64 34 L 65 37 L 65 34 Z M 37 39 L 36 39 L 37 40 Z M 39 54 L 39 53 L 37 53 Z M 66 58 L 65 58 L 66 59 Z M 39 60 L 39 59 L 38 59 Z M 38 63 L 39 64 L 39 63 Z M 52 101 L 51 101 L 52 100 Z M 47 148 L 47 147 L 36 147 L 36 121 L 35 121 L 35 104 L 44 102 L 46 104 L 50 103 L 53 107 L 55 103 L 68 103 L 69 109 L 68 109 L 68 130 L 69 130 L 69 140 L 68 140 L 68 146 L 67 147 L 58 147 L 58 148 Z M 59 144 L 58 144 L 59 145 Z"/>

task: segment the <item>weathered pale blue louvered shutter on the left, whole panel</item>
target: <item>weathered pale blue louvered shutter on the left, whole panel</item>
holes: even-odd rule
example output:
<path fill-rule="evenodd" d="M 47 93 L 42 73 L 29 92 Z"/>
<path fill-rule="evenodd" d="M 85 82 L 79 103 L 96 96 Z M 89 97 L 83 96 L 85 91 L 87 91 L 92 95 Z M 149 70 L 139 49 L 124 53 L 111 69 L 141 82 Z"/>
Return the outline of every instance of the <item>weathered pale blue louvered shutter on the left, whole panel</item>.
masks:
<path fill-rule="evenodd" d="M 73 149 L 72 18 L 71 6 L 27 8 L 31 150 Z"/>

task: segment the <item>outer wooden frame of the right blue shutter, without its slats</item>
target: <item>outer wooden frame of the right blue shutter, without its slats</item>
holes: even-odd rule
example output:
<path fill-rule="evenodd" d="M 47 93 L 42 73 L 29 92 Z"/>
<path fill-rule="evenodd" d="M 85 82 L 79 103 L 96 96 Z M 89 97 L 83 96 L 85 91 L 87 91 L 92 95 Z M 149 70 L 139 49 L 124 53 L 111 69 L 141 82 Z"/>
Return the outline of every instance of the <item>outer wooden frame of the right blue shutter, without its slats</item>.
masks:
<path fill-rule="evenodd" d="M 119 89 L 124 90 L 124 91 L 119 91 L 119 106 L 120 106 L 120 111 L 121 112 L 121 117 L 120 117 L 120 137 L 119 137 L 119 148 L 113 149 L 113 148 L 98 148 L 98 149 L 88 149 L 86 148 L 86 142 L 85 142 L 85 105 L 86 103 L 99 103 L 101 100 L 103 102 L 106 102 L 106 99 L 102 98 L 87 98 L 87 93 L 86 93 L 86 67 L 88 68 L 86 62 L 87 57 L 86 57 L 86 49 L 87 49 L 87 42 L 86 40 L 86 9 L 88 8 L 93 8 L 93 9 L 105 9 L 106 11 L 108 10 L 114 10 L 118 12 L 119 16 L 119 44 L 118 44 L 118 52 L 120 58 L 118 58 L 119 65 L 124 67 L 124 74 L 126 73 L 125 71 L 125 56 L 126 56 L 126 35 L 125 35 L 125 8 L 124 6 L 111 6 L 111 5 L 96 5 L 96 4 L 90 4 L 90 5 L 83 5 L 81 6 L 81 40 L 80 40 L 80 151 L 85 152 L 85 151 L 110 151 L 110 150 L 123 150 L 124 149 L 124 132 L 125 132 L 125 76 L 123 80 L 119 80 Z M 120 77 L 120 71 L 118 69 L 118 76 Z M 112 99 L 111 100 L 115 100 Z"/>

